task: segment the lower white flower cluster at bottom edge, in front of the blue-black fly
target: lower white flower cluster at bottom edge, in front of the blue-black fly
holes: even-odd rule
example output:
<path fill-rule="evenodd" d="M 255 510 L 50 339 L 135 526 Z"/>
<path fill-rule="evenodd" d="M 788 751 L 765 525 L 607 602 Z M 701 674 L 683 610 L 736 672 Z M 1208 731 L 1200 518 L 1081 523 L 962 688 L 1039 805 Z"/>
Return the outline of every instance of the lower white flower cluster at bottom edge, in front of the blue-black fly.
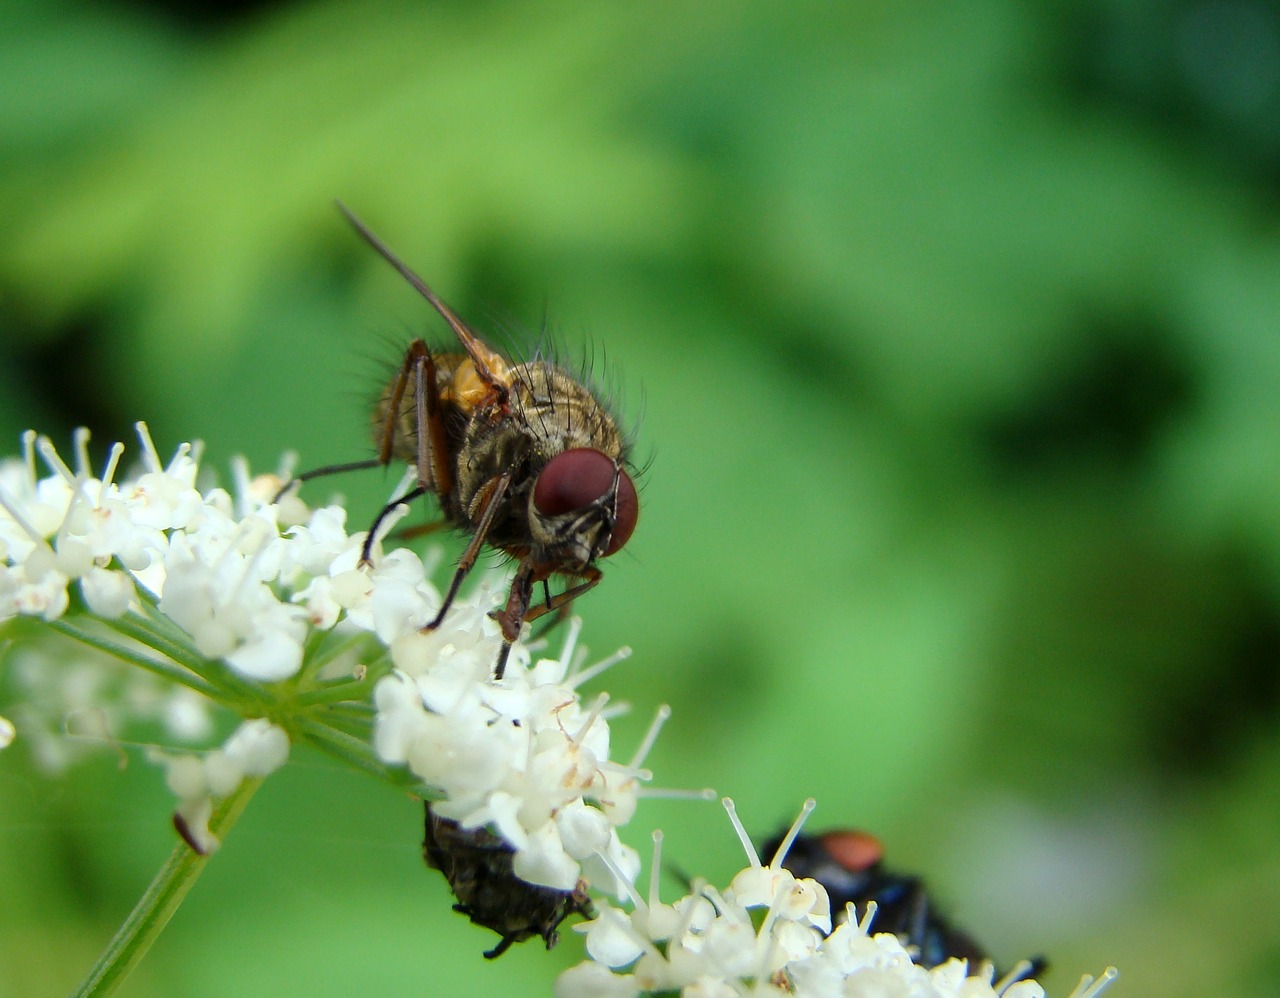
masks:
<path fill-rule="evenodd" d="M 575 926 L 586 934 L 591 958 L 559 976 L 558 998 L 1043 998 L 1044 989 L 1032 980 L 993 984 L 989 965 L 970 976 L 961 960 L 928 970 L 914 963 L 896 935 L 869 931 L 874 902 L 865 917 L 858 920 L 850 910 L 849 921 L 831 931 L 822 884 L 781 866 L 812 802 L 769 866 L 760 865 L 732 802 L 726 807 L 750 865 L 723 892 L 694 883 L 687 896 L 666 905 L 658 898 L 662 839 L 655 834 L 649 899 L 631 878 L 630 912 L 598 906 L 594 921 Z M 1114 969 L 1097 981 L 1085 978 L 1071 998 L 1096 998 L 1115 978 Z"/>

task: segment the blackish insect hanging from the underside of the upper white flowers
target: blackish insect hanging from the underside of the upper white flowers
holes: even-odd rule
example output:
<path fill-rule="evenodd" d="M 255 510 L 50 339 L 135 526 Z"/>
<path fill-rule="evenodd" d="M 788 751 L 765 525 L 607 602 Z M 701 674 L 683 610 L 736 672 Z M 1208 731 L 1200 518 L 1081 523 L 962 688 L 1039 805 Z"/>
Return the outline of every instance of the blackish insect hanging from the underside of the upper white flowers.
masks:
<path fill-rule="evenodd" d="M 512 870 L 515 850 L 486 828 L 466 829 L 440 818 L 426 805 L 426 865 L 444 874 L 458 899 L 453 910 L 476 925 L 493 929 L 502 940 L 485 952 L 500 957 L 512 943 L 540 935 L 547 948 L 556 946 L 557 930 L 570 915 L 594 917 L 586 882 L 573 891 L 526 883 Z"/>

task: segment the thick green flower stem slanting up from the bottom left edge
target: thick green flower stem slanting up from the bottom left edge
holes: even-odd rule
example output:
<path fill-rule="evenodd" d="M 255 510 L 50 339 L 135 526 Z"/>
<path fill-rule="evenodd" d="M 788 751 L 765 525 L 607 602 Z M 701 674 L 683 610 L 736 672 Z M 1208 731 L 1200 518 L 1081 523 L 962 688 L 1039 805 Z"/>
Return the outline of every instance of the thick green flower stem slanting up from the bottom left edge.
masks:
<path fill-rule="evenodd" d="M 219 801 L 209 819 L 209 830 L 219 839 L 225 838 L 261 783 L 261 779 L 246 779 L 229 797 Z M 76 998 L 102 998 L 120 986 L 169 924 L 207 862 L 209 856 L 192 851 L 186 842 L 174 847 L 115 938 L 74 992 Z"/>

